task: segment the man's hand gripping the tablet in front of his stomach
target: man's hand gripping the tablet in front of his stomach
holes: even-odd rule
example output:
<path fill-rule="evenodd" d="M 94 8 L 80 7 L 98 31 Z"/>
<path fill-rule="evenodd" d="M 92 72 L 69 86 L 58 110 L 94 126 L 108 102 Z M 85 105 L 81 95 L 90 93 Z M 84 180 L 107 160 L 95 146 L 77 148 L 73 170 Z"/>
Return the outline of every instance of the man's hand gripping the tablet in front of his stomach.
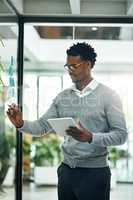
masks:
<path fill-rule="evenodd" d="M 66 133 L 80 142 L 90 143 L 92 141 L 92 133 L 85 129 L 80 123 L 80 121 L 77 122 L 77 125 L 75 127 L 70 126 L 66 130 Z"/>

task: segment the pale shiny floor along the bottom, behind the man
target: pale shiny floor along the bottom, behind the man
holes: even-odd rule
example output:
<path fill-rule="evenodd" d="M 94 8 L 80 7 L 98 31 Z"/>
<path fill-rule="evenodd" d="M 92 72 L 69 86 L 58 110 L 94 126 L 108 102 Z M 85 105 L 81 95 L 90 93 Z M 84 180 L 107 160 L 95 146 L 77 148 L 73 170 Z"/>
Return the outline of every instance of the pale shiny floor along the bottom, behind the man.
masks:
<path fill-rule="evenodd" d="M 6 194 L 0 195 L 2 200 L 14 200 L 13 188 L 6 188 Z M 23 188 L 23 200 L 57 200 L 56 187 L 30 187 Z M 111 191 L 111 200 L 133 200 L 133 185 L 117 184 Z"/>

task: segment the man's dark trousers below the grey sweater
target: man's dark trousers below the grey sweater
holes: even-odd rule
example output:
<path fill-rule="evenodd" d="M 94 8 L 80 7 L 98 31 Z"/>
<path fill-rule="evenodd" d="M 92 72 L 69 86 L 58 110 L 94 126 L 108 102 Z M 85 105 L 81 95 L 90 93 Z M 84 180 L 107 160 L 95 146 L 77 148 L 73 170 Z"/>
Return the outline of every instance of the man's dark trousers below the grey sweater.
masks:
<path fill-rule="evenodd" d="M 110 169 L 58 168 L 58 200 L 109 200 Z"/>

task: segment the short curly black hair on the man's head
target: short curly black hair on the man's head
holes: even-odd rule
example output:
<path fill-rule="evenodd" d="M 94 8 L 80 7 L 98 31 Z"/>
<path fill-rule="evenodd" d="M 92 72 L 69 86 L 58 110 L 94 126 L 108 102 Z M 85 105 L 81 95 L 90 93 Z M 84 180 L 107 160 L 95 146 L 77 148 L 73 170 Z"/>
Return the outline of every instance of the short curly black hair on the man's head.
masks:
<path fill-rule="evenodd" d="M 77 44 L 73 44 L 73 46 L 71 46 L 69 49 L 67 49 L 67 55 L 68 56 L 80 56 L 81 59 L 83 60 L 89 60 L 91 61 L 91 68 L 94 67 L 95 62 L 96 62 L 96 57 L 97 54 L 94 50 L 94 48 L 85 43 L 77 43 Z"/>

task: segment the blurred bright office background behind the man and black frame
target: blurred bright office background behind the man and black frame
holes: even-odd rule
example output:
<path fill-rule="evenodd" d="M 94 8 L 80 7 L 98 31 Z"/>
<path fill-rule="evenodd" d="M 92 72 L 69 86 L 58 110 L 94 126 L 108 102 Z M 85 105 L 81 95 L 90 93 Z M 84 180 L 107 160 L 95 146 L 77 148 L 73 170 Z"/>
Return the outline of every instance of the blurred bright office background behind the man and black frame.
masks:
<path fill-rule="evenodd" d="M 17 103 L 18 23 L 10 3 L 22 15 L 132 17 L 132 0 L 0 0 L 0 199 L 15 199 L 16 130 L 6 116 Z M 64 70 L 66 49 L 77 42 L 90 43 L 97 52 L 93 76 L 120 95 L 128 139 L 109 148 L 112 170 L 111 200 L 133 198 L 133 23 L 25 23 L 23 115 L 36 120 L 54 97 L 71 86 Z M 23 135 L 23 199 L 57 199 L 56 169 L 62 160 L 63 138 Z"/>

